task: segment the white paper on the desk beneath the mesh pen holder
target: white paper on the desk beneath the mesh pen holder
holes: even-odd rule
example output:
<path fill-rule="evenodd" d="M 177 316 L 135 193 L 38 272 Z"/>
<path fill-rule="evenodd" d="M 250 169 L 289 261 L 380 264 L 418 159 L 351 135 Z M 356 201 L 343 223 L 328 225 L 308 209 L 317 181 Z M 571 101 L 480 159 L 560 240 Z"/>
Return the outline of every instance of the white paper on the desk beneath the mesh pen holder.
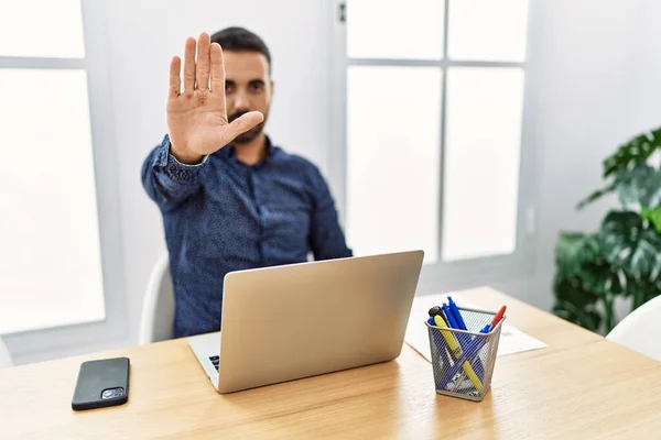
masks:
<path fill-rule="evenodd" d="M 458 295 L 452 295 L 452 299 L 459 307 L 483 309 L 468 301 L 465 301 Z M 447 302 L 447 295 L 425 295 L 415 297 L 411 316 L 409 317 L 409 326 L 404 341 L 411 345 L 413 350 L 422 354 L 427 361 L 432 362 L 432 353 L 430 349 L 430 336 L 424 320 L 429 317 L 429 310 L 434 306 L 440 306 Z M 498 355 L 505 356 L 508 354 L 520 353 L 522 351 L 538 350 L 545 348 L 546 344 L 542 341 L 523 333 L 513 326 L 503 322 L 500 331 L 500 341 L 498 342 Z"/>

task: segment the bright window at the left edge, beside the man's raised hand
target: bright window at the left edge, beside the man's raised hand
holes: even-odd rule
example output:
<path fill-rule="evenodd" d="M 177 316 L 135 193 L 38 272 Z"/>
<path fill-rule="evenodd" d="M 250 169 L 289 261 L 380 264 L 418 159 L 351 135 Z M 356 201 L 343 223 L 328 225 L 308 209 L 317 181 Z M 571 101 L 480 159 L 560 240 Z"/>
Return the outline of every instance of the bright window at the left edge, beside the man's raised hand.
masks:
<path fill-rule="evenodd" d="M 104 66 L 86 51 L 79 0 L 0 0 L 0 334 L 104 321 L 116 282 L 105 286 L 101 258 L 117 253 L 101 252 L 99 212 L 115 208 L 100 209 L 108 170 L 95 173 L 113 164 L 93 142 L 107 116 L 90 118 Z"/>

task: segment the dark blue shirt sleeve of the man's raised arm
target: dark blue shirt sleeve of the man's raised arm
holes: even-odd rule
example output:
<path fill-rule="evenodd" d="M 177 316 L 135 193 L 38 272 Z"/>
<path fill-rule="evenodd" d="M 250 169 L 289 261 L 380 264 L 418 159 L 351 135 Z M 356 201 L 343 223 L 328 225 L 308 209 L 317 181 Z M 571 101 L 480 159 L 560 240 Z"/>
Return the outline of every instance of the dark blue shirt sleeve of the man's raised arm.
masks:
<path fill-rule="evenodd" d="M 201 190 L 207 158 L 197 165 L 182 164 L 170 153 L 166 134 L 142 164 L 142 185 L 162 211 L 172 210 Z"/>

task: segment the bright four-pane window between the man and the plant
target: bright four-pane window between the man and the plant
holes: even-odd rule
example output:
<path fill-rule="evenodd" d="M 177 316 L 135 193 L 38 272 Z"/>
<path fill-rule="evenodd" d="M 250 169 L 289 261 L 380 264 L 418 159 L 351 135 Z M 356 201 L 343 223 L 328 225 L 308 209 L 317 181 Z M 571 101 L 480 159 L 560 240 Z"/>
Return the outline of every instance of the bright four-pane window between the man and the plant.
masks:
<path fill-rule="evenodd" d="M 356 254 L 423 249 L 423 275 L 436 279 L 514 266 L 532 233 L 531 190 L 519 185 L 532 166 L 528 1 L 347 0 L 338 10 L 344 148 L 330 165 Z"/>

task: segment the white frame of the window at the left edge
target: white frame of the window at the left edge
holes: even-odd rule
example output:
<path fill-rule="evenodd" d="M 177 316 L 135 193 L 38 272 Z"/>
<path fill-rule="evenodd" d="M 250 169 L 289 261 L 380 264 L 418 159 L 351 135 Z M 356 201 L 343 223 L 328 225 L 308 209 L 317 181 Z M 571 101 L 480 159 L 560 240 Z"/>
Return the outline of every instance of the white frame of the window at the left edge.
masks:
<path fill-rule="evenodd" d="M 87 74 L 100 261 L 104 282 L 102 320 L 9 332 L 2 339 L 15 359 L 46 358 L 48 353 L 84 344 L 107 344 L 128 337 L 124 304 L 123 248 L 120 223 L 119 161 L 115 142 L 112 95 L 107 61 L 108 32 L 104 2 L 80 0 L 84 58 L 0 56 L 0 68 L 82 69 Z M 35 268 L 39 271 L 39 268 Z M 20 293 L 15 293 L 20 295 Z M 36 305 L 39 307 L 39 305 Z M 32 355 L 32 356 L 31 356 Z"/>

